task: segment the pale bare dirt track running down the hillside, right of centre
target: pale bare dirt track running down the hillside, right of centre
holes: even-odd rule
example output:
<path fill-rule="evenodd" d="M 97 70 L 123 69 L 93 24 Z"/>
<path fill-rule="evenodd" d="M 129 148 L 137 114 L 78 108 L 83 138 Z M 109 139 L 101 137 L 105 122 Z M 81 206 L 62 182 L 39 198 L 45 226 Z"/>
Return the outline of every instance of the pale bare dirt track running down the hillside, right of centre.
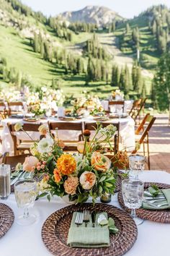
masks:
<path fill-rule="evenodd" d="M 122 51 L 117 47 L 117 40 L 116 37 L 109 34 L 98 34 L 97 35 L 100 43 L 102 43 L 103 48 L 113 57 L 113 62 L 118 64 L 120 67 L 128 65 L 129 68 L 133 66 L 133 58 L 130 56 L 125 56 L 122 54 Z M 147 69 L 142 69 L 142 74 L 145 77 L 153 78 L 153 74 L 149 72 Z"/>

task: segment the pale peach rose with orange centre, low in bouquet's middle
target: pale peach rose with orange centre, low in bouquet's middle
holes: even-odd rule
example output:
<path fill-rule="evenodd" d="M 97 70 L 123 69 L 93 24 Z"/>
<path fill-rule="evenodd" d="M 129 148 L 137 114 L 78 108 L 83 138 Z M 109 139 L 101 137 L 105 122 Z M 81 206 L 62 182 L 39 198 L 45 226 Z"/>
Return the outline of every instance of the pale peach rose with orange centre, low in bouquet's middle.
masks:
<path fill-rule="evenodd" d="M 91 171 L 84 171 L 80 176 L 80 184 L 83 189 L 89 190 L 94 187 L 96 175 Z"/>

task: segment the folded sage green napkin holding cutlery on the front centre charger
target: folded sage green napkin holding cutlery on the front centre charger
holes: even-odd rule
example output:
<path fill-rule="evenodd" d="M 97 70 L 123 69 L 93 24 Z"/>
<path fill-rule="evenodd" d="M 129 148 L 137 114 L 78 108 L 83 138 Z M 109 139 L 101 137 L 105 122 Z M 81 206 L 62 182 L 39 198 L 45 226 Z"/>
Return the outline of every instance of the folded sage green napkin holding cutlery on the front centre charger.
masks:
<path fill-rule="evenodd" d="M 99 213 L 101 214 L 101 213 Z M 67 244 L 71 247 L 84 247 L 84 248 L 98 248 L 98 247 L 109 247 L 109 229 L 106 226 L 100 226 L 97 223 L 95 228 L 92 227 L 91 215 L 90 221 L 85 227 L 85 223 L 77 227 L 75 224 L 76 212 L 73 213 L 71 221 L 71 227 L 68 231 Z M 107 213 L 102 213 L 107 217 Z"/>

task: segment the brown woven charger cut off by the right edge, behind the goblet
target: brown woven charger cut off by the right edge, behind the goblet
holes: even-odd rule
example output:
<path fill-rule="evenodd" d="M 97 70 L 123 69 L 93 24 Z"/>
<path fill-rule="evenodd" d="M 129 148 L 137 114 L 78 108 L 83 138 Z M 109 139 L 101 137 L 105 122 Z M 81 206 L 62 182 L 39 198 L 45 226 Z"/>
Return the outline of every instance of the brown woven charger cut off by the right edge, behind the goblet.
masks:
<path fill-rule="evenodd" d="M 168 184 L 162 184 L 162 183 L 156 183 L 156 182 L 145 182 L 144 188 L 148 189 L 151 184 L 156 184 L 159 189 L 169 189 L 170 185 Z M 130 213 L 130 209 L 125 207 L 125 204 L 122 199 L 122 192 L 120 191 L 118 193 L 118 201 L 121 205 L 121 207 L 128 211 Z M 145 210 L 143 208 L 136 210 L 136 215 L 140 218 L 146 219 L 148 221 L 155 221 L 155 222 L 161 222 L 161 223 L 170 223 L 170 210 Z"/>

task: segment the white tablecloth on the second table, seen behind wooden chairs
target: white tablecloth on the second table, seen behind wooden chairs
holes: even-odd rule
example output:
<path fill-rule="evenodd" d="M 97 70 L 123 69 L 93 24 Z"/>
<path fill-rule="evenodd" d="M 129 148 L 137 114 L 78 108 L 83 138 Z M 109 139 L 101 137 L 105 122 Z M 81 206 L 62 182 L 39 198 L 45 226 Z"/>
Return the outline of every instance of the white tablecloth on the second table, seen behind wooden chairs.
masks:
<path fill-rule="evenodd" d="M 47 123 L 48 120 L 50 121 L 61 121 L 58 119 L 42 119 L 40 122 Z M 2 133 L 1 133 L 1 140 L 2 140 L 2 153 L 9 152 L 10 155 L 13 153 L 13 142 L 12 137 L 9 133 L 9 129 L 7 127 L 7 123 L 16 124 L 17 122 L 22 122 L 22 119 L 4 119 L 1 120 L 1 125 L 4 127 Z M 81 119 L 78 121 L 73 122 L 80 122 L 80 121 L 86 121 L 86 122 L 93 122 L 93 118 L 89 117 L 86 119 Z M 120 122 L 120 137 L 122 138 L 122 144 L 127 148 L 127 150 L 132 151 L 135 148 L 135 122 L 133 119 L 129 116 L 128 118 L 121 118 L 121 119 L 110 119 L 108 121 L 109 123 L 118 123 Z M 75 137 L 77 136 L 79 132 L 73 132 L 71 130 L 67 131 L 58 131 L 58 135 L 61 140 L 75 140 Z M 37 132 L 34 132 L 32 139 L 38 140 L 40 135 Z M 24 134 L 24 132 L 17 132 L 17 137 L 21 140 L 30 140 L 30 138 Z"/>

